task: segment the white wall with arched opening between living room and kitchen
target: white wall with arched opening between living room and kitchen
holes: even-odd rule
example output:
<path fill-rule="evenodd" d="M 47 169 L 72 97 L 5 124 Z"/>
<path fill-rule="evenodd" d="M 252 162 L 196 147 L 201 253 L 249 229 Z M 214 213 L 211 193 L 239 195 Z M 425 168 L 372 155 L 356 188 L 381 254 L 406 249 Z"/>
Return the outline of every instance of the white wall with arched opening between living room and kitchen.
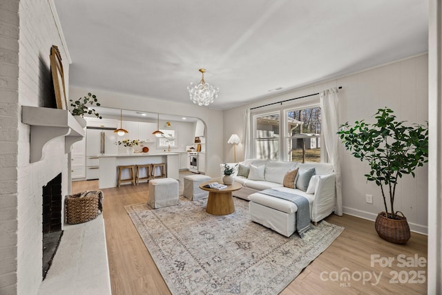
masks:
<path fill-rule="evenodd" d="M 223 112 L 206 106 L 190 104 L 189 95 L 183 89 L 183 103 L 171 104 L 164 99 L 141 97 L 124 93 L 115 93 L 101 89 L 88 89 L 77 86 L 69 87 L 70 97 L 83 97 L 92 92 L 97 95 L 99 103 L 108 108 L 124 108 L 131 111 L 163 113 L 184 117 L 197 117 L 206 125 L 206 175 L 218 177 L 219 164 L 223 158 Z M 194 127 L 193 127 L 194 128 Z"/>

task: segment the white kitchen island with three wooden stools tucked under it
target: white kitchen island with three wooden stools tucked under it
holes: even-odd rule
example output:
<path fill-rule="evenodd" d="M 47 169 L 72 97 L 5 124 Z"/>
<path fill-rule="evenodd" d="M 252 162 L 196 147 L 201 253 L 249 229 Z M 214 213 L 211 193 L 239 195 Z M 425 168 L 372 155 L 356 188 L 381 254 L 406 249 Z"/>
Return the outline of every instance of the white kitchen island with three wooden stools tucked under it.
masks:
<path fill-rule="evenodd" d="M 168 178 L 178 180 L 180 178 L 180 154 L 179 153 L 133 153 L 132 155 L 100 155 L 99 156 L 99 189 L 117 187 L 118 171 L 121 165 L 136 164 L 166 164 Z M 123 171 L 122 178 L 129 178 L 129 172 Z"/>

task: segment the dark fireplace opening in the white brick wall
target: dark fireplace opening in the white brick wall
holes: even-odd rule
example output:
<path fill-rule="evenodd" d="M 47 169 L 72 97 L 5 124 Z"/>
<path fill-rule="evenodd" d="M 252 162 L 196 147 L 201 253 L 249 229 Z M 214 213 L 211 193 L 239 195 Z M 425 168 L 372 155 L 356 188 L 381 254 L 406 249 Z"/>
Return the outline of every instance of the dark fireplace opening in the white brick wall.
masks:
<path fill-rule="evenodd" d="M 61 236 L 61 173 L 43 187 L 43 279 L 52 264 Z"/>

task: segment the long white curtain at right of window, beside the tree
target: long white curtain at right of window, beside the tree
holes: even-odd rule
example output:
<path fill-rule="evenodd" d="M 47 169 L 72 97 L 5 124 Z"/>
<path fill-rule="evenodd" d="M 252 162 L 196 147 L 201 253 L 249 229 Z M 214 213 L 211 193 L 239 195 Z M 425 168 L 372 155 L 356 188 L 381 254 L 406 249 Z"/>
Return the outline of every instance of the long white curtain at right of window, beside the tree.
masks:
<path fill-rule="evenodd" d="M 339 137 L 336 134 L 339 130 L 338 90 L 336 88 L 328 89 L 319 93 L 319 97 L 325 146 L 336 173 L 336 208 L 334 213 L 342 216 L 343 193 L 340 178 Z"/>

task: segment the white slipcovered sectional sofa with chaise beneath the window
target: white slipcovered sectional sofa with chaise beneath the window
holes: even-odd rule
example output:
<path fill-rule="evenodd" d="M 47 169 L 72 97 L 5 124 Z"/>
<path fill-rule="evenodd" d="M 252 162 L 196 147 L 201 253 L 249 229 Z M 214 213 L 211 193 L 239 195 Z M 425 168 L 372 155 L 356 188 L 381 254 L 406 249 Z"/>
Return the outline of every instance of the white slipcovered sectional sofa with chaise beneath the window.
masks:
<path fill-rule="evenodd" d="M 241 167 L 239 167 L 240 164 Z M 242 184 L 242 189 L 234 191 L 233 196 L 250 201 L 249 213 L 251 219 L 284 236 L 291 236 L 296 231 L 296 211 L 298 210 L 296 204 L 288 200 L 268 196 L 260 193 L 260 191 L 275 189 L 307 198 L 310 205 L 310 219 L 315 223 L 323 220 L 334 211 L 336 185 L 332 164 L 245 160 L 238 164 L 228 163 L 228 165 L 236 166 L 236 171 L 233 173 L 234 181 Z M 253 167 L 251 167 L 252 165 Z M 265 167 L 262 167 L 263 165 Z M 240 174 L 244 175 L 244 167 L 253 168 L 251 171 L 253 175 L 248 175 L 248 177 L 238 176 L 238 170 Z M 257 169 L 258 167 L 260 169 Z M 309 181 L 307 190 L 305 190 L 306 184 L 300 185 L 300 187 L 296 185 L 296 180 L 298 182 L 301 180 L 299 178 L 295 180 L 295 188 L 283 185 L 286 173 L 296 168 L 298 168 L 298 175 L 302 175 L 308 169 L 314 169 L 314 180 Z M 262 169 L 264 169 L 263 175 Z"/>

